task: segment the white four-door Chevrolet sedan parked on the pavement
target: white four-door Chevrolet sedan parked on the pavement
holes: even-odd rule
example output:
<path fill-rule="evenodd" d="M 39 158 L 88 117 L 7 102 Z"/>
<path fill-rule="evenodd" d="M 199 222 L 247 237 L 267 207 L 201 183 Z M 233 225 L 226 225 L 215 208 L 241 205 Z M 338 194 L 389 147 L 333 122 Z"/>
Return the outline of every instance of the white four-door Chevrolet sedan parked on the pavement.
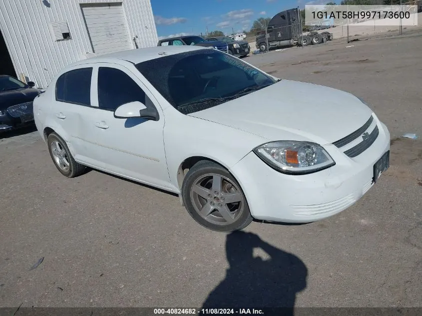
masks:
<path fill-rule="evenodd" d="M 327 218 L 389 167 L 389 131 L 364 101 L 211 48 L 85 59 L 63 69 L 33 107 L 64 176 L 89 166 L 175 192 L 215 231 L 253 219 Z"/>

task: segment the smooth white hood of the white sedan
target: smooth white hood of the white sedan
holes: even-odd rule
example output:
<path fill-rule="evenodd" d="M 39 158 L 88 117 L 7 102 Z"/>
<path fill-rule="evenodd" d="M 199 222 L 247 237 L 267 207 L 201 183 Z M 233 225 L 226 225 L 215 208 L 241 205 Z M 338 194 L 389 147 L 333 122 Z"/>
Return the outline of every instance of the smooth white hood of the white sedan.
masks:
<path fill-rule="evenodd" d="M 356 131 L 371 114 L 368 106 L 348 92 L 282 80 L 189 115 L 270 141 L 304 140 L 326 145 Z"/>

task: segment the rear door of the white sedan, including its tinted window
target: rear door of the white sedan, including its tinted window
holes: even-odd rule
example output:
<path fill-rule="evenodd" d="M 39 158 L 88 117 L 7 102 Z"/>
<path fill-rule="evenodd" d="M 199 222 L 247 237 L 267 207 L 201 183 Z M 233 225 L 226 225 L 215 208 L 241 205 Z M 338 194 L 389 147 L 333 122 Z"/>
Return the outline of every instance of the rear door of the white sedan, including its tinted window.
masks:
<path fill-rule="evenodd" d="M 90 149 L 95 144 L 91 124 L 95 109 L 91 106 L 93 66 L 75 67 L 56 81 L 52 115 L 53 129 L 68 143 L 76 161 L 99 167 L 90 158 Z M 96 97 L 96 96 L 95 96 Z"/>

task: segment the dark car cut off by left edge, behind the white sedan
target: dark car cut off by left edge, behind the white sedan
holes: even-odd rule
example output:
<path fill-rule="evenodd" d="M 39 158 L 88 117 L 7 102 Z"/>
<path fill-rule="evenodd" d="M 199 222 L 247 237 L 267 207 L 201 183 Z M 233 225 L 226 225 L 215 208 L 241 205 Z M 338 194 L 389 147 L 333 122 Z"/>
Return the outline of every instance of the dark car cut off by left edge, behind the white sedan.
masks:
<path fill-rule="evenodd" d="M 0 132 L 33 123 L 32 101 L 40 93 L 8 75 L 0 75 Z"/>

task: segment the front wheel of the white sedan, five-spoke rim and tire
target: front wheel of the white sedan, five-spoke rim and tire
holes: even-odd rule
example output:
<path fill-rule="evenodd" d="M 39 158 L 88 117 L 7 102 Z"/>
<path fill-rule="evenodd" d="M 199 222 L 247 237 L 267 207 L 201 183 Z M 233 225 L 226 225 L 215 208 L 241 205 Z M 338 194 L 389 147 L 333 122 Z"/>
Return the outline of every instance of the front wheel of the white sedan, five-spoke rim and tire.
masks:
<path fill-rule="evenodd" d="M 239 183 L 228 170 L 212 161 L 202 160 L 189 170 L 181 194 L 189 215 L 210 230 L 233 232 L 252 222 Z M 229 199 L 233 202 L 227 203 Z"/>

